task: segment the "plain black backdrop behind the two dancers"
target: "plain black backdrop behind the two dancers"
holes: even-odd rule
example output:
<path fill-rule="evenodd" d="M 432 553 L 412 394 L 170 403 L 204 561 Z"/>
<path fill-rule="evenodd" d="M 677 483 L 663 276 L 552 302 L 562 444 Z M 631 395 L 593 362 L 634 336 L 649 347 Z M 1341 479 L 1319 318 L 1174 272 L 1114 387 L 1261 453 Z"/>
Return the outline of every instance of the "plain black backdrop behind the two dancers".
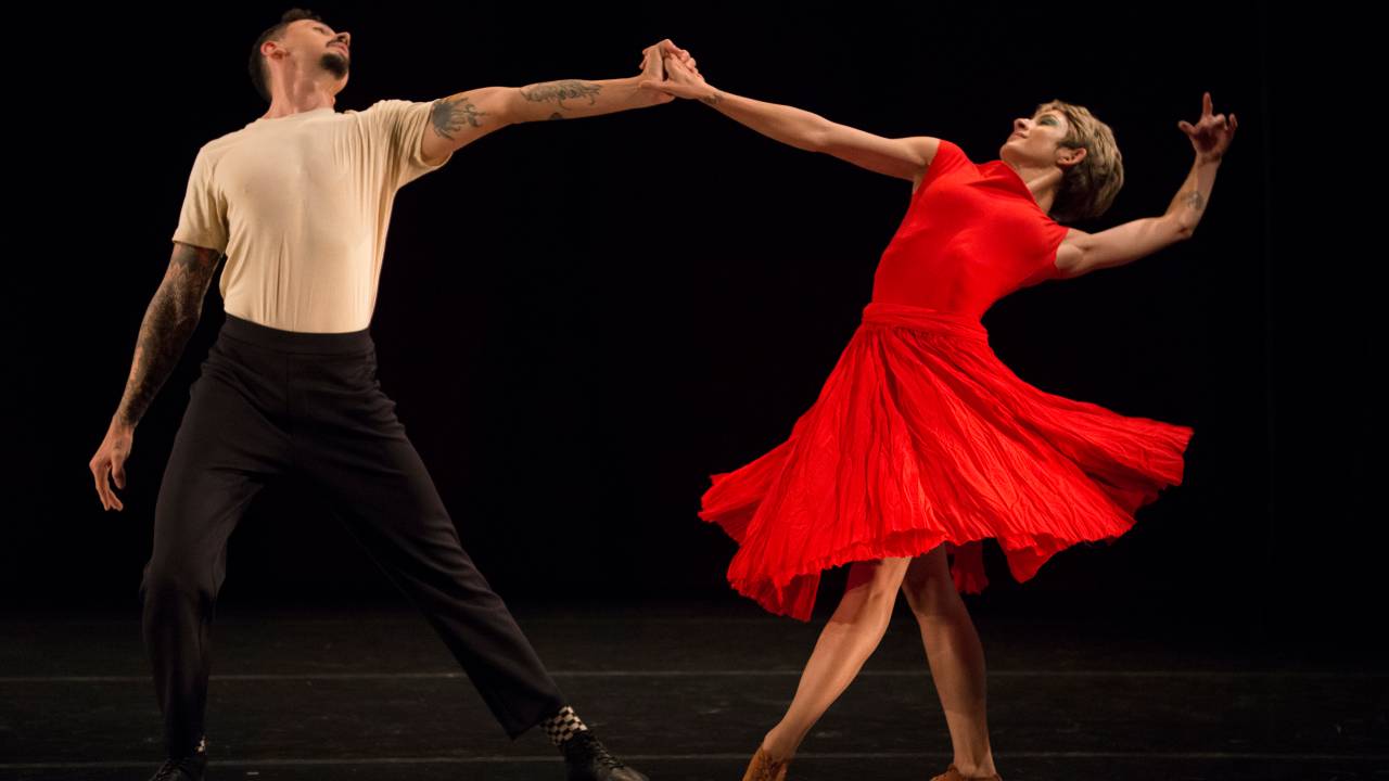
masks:
<path fill-rule="evenodd" d="M 21 79 L 24 124 L 42 138 L 11 158 L 26 247 L 7 325 L 11 607 L 138 610 L 169 445 L 222 321 L 215 283 L 136 429 L 122 513 L 101 510 L 88 461 L 193 156 L 264 113 L 246 58 L 286 7 L 82 11 L 26 38 L 42 67 Z M 975 161 L 1036 104 L 1079 103 L 1114 129 L 1128 182 L 1088 231 L 1165 210 L 1193 154 L 1176 122 L 1210 90 L 1240 129 L 1195 239 L 1021 290 L 983 320 L 1033 385 L 1192 425 L 1185 482 L 1113 546 L 1068 550 L 1026 585 L 990 549 L 982 599 L 1340 636 L 1381 599 L 1370 275 L 1383 258 L 1358 235 L 1382 199 L 1383 132 L 1368 71 L 1347 61 L 1374 58 L 1353 19 L 1254 4 L 313 8 L 353 33 L 338 110 L 628 76 L 661 38 L 726 92 L 947 138 Z M 733 543 L 696 517 L 707 475 L 782 442 L 815 399 L 908 193 L 692 101 L 511 126 L 401 189 L 372 321 L 381 379 L 497 591 L 729 598 Z M 228 566 L 224 600 L 393 595 L 288 486 L 256 502 Z"/>

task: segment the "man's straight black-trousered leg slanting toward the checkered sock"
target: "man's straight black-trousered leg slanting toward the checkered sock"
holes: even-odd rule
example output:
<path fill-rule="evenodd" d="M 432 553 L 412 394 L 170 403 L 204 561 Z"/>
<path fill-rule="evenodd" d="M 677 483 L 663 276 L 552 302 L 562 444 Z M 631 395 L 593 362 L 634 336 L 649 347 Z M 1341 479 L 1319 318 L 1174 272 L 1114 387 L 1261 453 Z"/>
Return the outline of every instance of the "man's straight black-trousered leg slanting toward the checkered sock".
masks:
<path fill-rule="evenodd" d="M 375 384 L 375 357 L 296 360 L 290 385 L 296 420 L 313 421 L 296 428 L 297 468 L 424 613 L 507 735 L 554 716 L 564 696 L 463 550 L 394 402 Z"/>

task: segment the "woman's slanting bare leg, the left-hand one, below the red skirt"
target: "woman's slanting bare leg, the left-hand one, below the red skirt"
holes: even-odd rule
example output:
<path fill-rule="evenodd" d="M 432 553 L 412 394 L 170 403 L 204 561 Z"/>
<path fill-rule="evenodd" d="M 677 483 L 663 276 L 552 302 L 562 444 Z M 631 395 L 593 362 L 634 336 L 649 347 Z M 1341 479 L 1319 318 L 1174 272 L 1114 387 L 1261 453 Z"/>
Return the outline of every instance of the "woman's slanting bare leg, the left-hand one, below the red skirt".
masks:
<path fill-rule="evenodd" d="M 790 709 L 763 738 L 763 749 L 774 760 L 789 760 L 796 755 L 815 721 L 849 688 L 878 648 L 910 563 L 911 559 L 883 559 L 856 561 L 850 567 L 845 598 L 820 632 Z"/>

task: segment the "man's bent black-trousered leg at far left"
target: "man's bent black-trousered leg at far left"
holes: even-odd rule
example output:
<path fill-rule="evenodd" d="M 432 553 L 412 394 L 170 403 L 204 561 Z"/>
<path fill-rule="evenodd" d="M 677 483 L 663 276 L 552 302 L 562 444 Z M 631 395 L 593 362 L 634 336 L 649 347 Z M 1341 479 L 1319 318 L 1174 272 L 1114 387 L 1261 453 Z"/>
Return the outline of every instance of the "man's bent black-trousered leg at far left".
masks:
<path fill-rule="evenodd" d="M 264 413 L 278 395 L 275 367 L 267 363 L 267 356 L 224 339 L 213 346 L 160 482 L 140 596 L 171 757 L 192 755 L 204 735 L 211 623 L 226 574 L 226 539 L 256 493 L 285 468 L 288 439 Z"/>

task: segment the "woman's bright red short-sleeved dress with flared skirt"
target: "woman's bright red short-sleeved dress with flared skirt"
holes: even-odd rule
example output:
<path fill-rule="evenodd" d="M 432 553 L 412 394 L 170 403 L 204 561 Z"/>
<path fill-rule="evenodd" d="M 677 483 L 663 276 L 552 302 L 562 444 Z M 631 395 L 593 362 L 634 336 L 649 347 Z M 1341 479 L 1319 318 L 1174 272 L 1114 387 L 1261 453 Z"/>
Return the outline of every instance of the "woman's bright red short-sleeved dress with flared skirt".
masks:
<path fill-rule="evenodd" d="M 983 539 L 1026 581 L 1182 482 L 1192 428 L 1046 393 L 989 347 L 985 310 L 1058 277 L 1065 233 L 1008 164 L 940 142 L 814 406 L 711 475 L 700 518 L 738 541 L 738 592 L 804 621 L 821 571 L 945 542 L 956 588 L 978 593 Z"/>

